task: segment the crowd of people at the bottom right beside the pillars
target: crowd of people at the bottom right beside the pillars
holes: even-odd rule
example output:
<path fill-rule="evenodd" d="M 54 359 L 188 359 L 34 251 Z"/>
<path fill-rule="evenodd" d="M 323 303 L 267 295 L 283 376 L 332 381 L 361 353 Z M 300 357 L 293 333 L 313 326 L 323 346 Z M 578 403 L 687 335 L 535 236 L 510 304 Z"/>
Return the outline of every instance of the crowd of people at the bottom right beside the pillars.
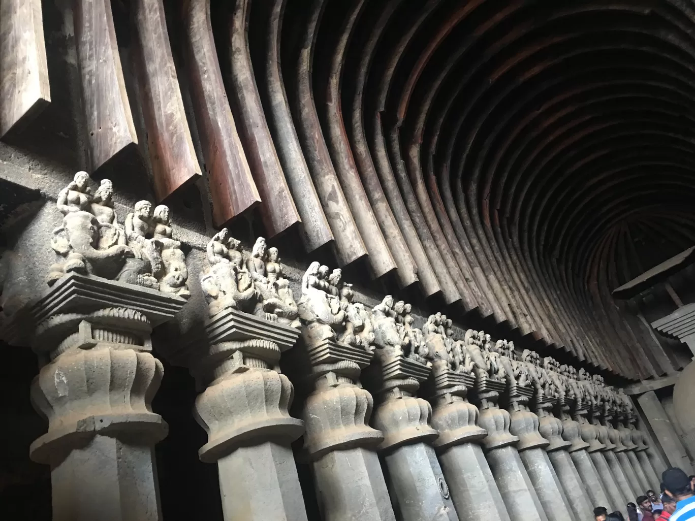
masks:
<path fill-rule="evenodd" d="M 680 468 L 669 468 L 661 474 L 661 493 L 647 490 L 628 503 L 629 521 L 695 521 L 695 476 Z M 594 508 L 595 521 L 626 521 L 621 511 L 608 512 L 605 506 Z"/>

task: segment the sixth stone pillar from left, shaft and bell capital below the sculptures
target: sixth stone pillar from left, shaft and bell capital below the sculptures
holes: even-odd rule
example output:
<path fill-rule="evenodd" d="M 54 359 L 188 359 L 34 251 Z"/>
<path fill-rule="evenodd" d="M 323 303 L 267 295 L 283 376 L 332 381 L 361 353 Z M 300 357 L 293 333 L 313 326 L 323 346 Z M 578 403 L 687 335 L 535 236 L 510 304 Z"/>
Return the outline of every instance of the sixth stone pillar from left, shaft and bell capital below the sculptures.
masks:
<path fill-rule="evenodd" d="M 514 521 L 545 521 L 548 516 L 515 447 L 519 438 L 509 431 L 509 413 L 497 404 L 505 386 L 504 381 L 480 374 L 475 382 L 480 427 L 487 431 L 482 440 L 486 458 L 510 517 Z"/>

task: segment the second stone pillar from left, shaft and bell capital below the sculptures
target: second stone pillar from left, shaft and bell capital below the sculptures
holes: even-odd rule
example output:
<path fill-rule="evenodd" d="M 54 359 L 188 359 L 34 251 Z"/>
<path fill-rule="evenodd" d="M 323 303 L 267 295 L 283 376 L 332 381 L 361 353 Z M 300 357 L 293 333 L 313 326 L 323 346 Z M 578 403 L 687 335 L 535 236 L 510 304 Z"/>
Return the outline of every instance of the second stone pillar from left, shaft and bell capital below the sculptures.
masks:
<path fill-rule="evenodd" d="M 186 342 L 186 365 L 203 392 L 195 418 L 208 433 L 201 461 L 217 463 L 225 521 L 306 520 L 290 444 L 304 422 L 288 407 L 293 386 L 279 372 L 281 352 L 299 331 L 227 308 Z"/>

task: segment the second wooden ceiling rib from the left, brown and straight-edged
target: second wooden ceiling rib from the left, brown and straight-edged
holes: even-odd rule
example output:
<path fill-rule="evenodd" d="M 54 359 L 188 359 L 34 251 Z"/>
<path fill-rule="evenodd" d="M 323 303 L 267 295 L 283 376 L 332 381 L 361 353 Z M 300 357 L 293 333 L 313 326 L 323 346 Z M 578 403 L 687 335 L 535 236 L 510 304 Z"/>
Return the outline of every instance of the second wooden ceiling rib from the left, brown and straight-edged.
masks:
<path fill-rule="evenodd" d="M 117 154 L 137 154 L 133 115 L 126 93 L 111 14 L 111 0 L 76 0 L 73 23 L 88 152 L 95 172 Z"/>

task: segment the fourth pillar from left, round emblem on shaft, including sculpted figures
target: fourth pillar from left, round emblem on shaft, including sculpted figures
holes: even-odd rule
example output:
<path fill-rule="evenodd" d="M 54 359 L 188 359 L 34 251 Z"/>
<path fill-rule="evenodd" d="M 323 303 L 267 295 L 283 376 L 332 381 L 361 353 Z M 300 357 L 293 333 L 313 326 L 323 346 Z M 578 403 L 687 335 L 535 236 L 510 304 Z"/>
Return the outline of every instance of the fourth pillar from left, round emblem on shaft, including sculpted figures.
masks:
<path fill-rule="evenodd" d="M 384 433 L 378 449 L 386 464 L 386 484 L 398 519 L 458 521 L 449 487 L 437 461 L 430 426 L 432 406 L 415 397 L 430 363 L 421 356 L 422 333 L 406 323 L 402 301 L 386 296 L 372 313 L 375 360 L 373 388 L 378 405 L 373 425 Z M 366 375 L 363 379 L 366 381 Z"/>

